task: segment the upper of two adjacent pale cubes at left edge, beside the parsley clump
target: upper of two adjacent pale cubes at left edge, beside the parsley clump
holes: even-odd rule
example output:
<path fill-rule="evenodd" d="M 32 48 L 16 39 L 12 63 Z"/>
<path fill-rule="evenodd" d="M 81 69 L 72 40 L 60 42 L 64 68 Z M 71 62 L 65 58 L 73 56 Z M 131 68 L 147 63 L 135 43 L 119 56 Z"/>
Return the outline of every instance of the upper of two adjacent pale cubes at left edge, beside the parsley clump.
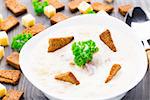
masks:
<path fill-rule="evenodd" d="M 0 32 L 0 45 L 1 46 L 8 46 L 9 45 L 8 35 L 5 31 Z"/>

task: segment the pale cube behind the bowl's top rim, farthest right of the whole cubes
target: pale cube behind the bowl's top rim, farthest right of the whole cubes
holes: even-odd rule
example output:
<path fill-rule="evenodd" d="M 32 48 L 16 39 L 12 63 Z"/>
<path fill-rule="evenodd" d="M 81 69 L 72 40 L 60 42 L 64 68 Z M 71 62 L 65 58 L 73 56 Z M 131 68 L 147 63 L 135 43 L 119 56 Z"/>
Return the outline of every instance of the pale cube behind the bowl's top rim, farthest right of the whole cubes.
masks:
<path fill-rule="evenodd" d="M 92 6 L 88 3 L 86 3 L 85 1 L 82 1 L 79 5 L 78 5 L 78 9 L 81 13 L 86 14 L 88 11 L 93 10 Z"/>

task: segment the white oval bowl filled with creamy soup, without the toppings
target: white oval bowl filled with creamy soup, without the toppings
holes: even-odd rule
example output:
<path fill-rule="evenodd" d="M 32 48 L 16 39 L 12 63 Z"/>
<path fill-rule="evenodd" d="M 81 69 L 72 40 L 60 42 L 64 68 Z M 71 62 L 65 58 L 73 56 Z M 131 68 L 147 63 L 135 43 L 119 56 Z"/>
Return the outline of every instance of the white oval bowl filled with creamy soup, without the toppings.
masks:
<path fill-rule="evenodd" d="M 106 28 L 112 32 L 118 49 L 116 53 L 109 50 L 98 37 Z M 96 69 L 99 73 L 96 71 L 95 76 L 88 76 L 77 67 L 70 68 L 64 62 L 62 55 L 65 55 L 65 59 L 73 57 L 71 44 L 54 54 L 47 52 L 50 37 L 68 35 L 74 35 L 75 41 L 92 39 L 100 47 L 100 54 L 96 57 L 100 61 L 100 67 Z M 114 63 L 121 64 L 122 69 L 110 83 L 105 84 Z M 27 79 L 50 99 L 117 100 L 142 80 L 147 70 L 147 57 L 142 43 L 128 25 L 105 14 L 91 14 L 72 17 L 34 36 L 20 52 L 20 65 Z M 74 86 L 56 81 L 54 73 L 61 70 L 73 71 L 81 84 Z"/>

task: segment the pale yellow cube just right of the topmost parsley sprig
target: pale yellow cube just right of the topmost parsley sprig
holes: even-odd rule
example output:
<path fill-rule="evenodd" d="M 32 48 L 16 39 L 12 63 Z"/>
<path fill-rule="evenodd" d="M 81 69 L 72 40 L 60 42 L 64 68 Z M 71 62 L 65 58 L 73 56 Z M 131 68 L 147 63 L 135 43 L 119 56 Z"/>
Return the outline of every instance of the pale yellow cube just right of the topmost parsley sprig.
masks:
<path fill-rule="evenodd" d="M 52 16 L 54 16 L 54 14 L 56 14 L 56 8 L 54 8 L 52 5 L 46 6 L 44 8 L 44 14 L 50 18 Z"/>

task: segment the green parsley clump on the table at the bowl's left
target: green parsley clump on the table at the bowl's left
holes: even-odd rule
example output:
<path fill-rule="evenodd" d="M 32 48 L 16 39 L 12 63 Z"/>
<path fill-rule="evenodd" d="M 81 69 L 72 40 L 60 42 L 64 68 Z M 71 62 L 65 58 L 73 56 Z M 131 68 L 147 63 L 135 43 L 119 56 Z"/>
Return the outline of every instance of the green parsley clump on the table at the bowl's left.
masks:
<path fill-rule="evenodd" d="M 15 37 L 13 37 L 11 48 L 20 52 L 23 45 L 32 37 L 32 34 L 17 34 Z"/>

